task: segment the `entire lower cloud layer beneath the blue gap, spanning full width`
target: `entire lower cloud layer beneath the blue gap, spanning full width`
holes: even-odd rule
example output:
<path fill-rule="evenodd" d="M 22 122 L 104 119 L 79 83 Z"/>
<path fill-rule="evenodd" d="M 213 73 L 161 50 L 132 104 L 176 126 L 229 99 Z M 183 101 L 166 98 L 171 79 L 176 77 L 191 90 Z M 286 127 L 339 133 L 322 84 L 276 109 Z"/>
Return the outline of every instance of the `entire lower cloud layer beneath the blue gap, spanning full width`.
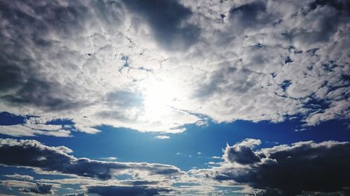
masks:
<path fill-rule="evenodd" d="M 52 177 L 3 175 L 6 180 L 1 179 L 0 185 L 37 194 L 55 194 L 79 186 L 79 194 L 102 196 L 214 193 L 292 196 L 349 192 L 349 142 L 308 141 L 254 150 L 260 143 L 246 139 L 228 145 L 223 151 L 223 162 L 209 163 L 207 169 L 182 172 L 172 165 L 74 158 L 66 153 L 65 146 L 1 139 L 1 165 L 27 167 L 36 174 Z M 22 156 L 13 156 L 20 151 Z M 57 175 L 61 177 L 55 179 Z M 125 175 L 130 177 L 124 179 Z"/>

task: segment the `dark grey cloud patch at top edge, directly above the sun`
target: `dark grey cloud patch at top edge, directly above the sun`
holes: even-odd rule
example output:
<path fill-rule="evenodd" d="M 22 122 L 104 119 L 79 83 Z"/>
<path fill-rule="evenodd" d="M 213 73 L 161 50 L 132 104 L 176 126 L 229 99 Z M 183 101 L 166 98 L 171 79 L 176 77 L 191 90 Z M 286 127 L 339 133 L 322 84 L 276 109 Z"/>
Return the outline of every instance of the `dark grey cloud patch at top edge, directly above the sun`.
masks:
<path fill-rule="evenodd" d="M 186 50 L 197 42 L 200 29 L 183 22 L 192 15 L 189 8 L 176 0 L 132 0 L 125 1 L 130 10 L 146 18 L 155 40 L 169 50 Z"/>

